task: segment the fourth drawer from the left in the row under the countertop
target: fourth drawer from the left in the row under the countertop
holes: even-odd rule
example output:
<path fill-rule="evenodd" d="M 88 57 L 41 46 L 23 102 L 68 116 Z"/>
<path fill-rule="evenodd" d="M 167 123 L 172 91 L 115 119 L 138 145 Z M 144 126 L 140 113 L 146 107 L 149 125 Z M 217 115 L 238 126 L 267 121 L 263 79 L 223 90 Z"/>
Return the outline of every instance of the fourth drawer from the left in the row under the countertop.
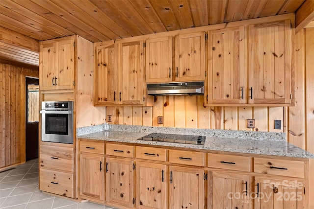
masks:
<path fill-rule="evenodd" d="M 204 153 L 193 151 L 169 150 L 169 162 L 185 165 L 204 166 Z"/>

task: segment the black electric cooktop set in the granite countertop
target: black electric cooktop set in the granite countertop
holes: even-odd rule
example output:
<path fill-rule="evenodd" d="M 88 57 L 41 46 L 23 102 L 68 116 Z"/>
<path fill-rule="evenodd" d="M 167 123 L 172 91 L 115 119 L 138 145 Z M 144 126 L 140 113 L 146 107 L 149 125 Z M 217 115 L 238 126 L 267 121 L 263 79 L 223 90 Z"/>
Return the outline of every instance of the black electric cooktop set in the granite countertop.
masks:
<path fill-rule="evenodd" d="M 205 139 L 206 139 L 206 136 L 152 133 L 145 137 L 139 138 L 138 140 L 204 145 Z"/>

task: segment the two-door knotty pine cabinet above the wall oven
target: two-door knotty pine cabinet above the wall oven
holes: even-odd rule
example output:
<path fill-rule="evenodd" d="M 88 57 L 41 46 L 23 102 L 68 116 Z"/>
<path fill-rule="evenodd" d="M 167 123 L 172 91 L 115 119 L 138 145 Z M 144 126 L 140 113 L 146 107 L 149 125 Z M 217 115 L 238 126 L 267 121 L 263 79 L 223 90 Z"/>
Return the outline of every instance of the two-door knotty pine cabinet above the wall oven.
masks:
<path fill-rule="evenodd" d="M 39 77 L 41 90 L 74 88 L 75 38 L 41 42 Z"/>

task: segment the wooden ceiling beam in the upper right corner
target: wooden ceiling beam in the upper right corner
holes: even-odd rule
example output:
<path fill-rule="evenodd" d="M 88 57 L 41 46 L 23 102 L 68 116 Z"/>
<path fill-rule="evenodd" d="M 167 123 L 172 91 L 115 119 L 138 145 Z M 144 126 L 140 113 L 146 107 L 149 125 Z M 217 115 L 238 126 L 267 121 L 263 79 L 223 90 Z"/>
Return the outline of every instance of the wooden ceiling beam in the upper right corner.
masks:
<path fill-rule="evenodd" d="M 305 0 L 295 12 L 295 33 L 314 20 L 314 0 Z"/>

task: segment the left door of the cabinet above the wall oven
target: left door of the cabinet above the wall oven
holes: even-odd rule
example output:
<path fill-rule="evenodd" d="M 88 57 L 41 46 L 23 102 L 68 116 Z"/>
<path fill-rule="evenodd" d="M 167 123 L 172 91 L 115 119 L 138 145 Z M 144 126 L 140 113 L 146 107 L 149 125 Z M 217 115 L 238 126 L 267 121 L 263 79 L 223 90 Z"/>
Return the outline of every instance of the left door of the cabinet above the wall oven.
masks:
<path fill-rule="evenodd" d="M 55 43 L 41 44 L 40 45 L 40 89 L 50 90 L 54 89 L 55 75 Z M 53 80 L 52 80 L 53 78 Z"/>

